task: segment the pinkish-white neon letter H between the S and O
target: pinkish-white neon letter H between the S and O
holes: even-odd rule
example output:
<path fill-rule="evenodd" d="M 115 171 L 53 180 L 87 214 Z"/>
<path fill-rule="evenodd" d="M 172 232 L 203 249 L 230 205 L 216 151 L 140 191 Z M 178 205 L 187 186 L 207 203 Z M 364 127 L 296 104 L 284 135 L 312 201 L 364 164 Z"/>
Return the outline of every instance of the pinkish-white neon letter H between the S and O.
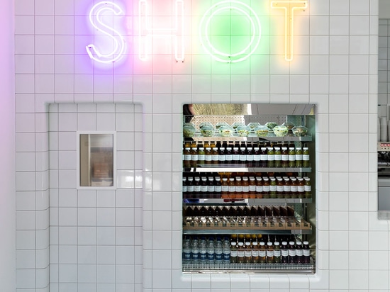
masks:
<path fill-rule="evenodd" d="M 147 52 L 149 50 L 150 38 L 153 36 L 162 36 L 165 38 L 173 38 L 174 59 L 178 62 L 184 61 L 184 1 L 175 1 L 175 15 L 173 28 L 150 28 L 149 27 L 149 9 L 147 0 L 138 2 L 138 19 L 139 19 L 139 52 L 140 60 L 147 60 Z"/>

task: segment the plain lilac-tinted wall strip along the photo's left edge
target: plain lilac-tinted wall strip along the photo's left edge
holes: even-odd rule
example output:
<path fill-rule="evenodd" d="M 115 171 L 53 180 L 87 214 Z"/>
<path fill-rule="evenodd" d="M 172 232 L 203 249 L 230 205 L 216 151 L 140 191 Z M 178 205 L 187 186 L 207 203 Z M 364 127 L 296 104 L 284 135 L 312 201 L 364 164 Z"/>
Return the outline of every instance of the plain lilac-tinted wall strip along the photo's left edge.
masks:
<path fill-rule="evenodd" d="M 13 0 L 0 9 L 0 290 L 15 291 L 15 69 Z"/>

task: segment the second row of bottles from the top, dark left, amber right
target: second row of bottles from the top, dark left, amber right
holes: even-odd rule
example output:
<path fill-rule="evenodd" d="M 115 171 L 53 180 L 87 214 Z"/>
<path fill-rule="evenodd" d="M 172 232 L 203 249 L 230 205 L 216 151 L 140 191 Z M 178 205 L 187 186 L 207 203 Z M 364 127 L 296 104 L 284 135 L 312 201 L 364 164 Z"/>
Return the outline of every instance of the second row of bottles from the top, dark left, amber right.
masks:
<path fill-rule="evenodd" d="M 183 176 L 183 198 L 311 198 L 307 176 Z"/>

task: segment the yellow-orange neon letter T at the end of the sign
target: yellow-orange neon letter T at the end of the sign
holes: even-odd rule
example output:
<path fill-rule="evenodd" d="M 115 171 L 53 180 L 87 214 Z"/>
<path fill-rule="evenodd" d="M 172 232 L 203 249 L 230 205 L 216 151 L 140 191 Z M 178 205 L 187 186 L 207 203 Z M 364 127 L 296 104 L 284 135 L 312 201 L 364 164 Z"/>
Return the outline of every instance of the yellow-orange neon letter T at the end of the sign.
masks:
<path fill-rule="evenodd" d="M 308 1 L 271 1 L 271 8 L 284 9 L 284 59 L 291 62 L 294 57 L 294 11 L 305 10 Z"/>

